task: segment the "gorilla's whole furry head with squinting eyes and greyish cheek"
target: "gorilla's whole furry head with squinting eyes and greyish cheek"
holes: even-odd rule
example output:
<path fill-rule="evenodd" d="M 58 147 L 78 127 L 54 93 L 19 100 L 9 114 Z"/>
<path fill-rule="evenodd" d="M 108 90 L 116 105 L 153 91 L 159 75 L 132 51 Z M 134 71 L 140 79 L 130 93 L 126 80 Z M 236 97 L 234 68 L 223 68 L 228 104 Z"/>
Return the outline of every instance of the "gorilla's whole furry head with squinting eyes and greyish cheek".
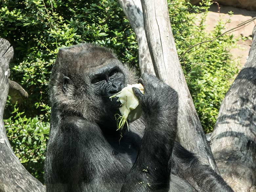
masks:
<path fill-rule="evenodd" d="M 50 97 L 61 114 L 75 114 L 116 127 L 120 102 L 110 96 L 133 83 L 134 71 L 105 48 L 91 44 L 59 51 L 50 82 Z"/>

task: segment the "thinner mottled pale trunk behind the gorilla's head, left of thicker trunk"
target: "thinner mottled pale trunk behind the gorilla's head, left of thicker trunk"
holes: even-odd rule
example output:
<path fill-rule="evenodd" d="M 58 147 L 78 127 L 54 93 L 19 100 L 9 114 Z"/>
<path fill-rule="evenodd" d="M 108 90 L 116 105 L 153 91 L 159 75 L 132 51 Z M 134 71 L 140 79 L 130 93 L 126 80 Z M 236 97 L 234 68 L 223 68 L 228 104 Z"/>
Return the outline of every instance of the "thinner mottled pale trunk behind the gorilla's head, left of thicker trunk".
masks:
<path fill-rule="evenodd" d="M 124 14 L 136 34 L 139 46 L 139 69 L 142 73 L 156 75 L 148 49 L 148 43 L 144 30 L 143 12 L 140 0 L 118 0 Z"/>

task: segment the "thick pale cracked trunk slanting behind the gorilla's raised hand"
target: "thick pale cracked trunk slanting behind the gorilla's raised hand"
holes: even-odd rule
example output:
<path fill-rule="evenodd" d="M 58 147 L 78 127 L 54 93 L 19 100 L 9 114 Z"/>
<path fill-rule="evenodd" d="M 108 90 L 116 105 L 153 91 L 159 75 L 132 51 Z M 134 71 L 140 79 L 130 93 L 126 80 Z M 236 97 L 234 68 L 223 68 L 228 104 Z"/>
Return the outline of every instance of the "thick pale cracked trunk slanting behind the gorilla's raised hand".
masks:
<path fill-rule="evenodd" d="M 217 173 L 209 143 L 203 132 L 183 75 L 166 0 L 141 0 L 144 29 L 156 75 L 179 94 L 177 139 Z"/>

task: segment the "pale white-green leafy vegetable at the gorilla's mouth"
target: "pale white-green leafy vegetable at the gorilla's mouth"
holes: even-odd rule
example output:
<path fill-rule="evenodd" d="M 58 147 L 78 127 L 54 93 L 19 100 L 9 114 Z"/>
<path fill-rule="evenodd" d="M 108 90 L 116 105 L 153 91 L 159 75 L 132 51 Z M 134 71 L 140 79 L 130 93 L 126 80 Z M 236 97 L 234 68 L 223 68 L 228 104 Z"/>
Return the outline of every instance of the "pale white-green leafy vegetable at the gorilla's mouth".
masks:
<path fill-rule="evenodd" d="M 119 111 L 121 115 L 116 114 L 117 120 L 117 130 L 122 129 L 125 123 L 127 124 L 128 130 L 129 126 L 127 123 L 127 119 L 129 122 L 135 121 L 141 116 L 141 106 L 139 105 L 138 98 L 133 94 L 132 88 L 138 88 L 142 94 L 144 94 L 143 86 L 139 84 L 127 85 L 117 94 L 109 97 L 112 99 L 113 97 L 118 97 L 117 101 L 120 101 L 121 105 Z"/>

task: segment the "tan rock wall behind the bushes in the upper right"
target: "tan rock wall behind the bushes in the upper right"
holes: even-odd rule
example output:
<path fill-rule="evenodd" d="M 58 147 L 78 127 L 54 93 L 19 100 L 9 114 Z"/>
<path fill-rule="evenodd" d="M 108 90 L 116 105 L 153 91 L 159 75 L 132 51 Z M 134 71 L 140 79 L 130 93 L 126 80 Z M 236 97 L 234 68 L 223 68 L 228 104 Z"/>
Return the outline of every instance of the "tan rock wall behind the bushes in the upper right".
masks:
<path fill-rule="evenodd" d="M 200 1 L 192 0 L 191 2 L 197 4 Z M 225 24 L 227 31 L 237 27 L 240 23 L 256 17 L 256 0 L 218 0 L 218 2 L 219 3 L 214 3 L 211 6 L 206 17 L 205 30 L 207 32 L 212 31 L 220 20 L 224 22 L 228 19 L 231 20 L 229 23 Z M 232 11 L 234 15 L 230 17 L 228 14 L 229 11 Z M 234 38 L 239 38 L 237 47 L 231 49 L 231 54 L 238 60 L 239 69 L 241 69 L 247 61 L 252 43 L 251 32 L 255 25 L 256 20 L 231 33 L 234 35 Z"/>

